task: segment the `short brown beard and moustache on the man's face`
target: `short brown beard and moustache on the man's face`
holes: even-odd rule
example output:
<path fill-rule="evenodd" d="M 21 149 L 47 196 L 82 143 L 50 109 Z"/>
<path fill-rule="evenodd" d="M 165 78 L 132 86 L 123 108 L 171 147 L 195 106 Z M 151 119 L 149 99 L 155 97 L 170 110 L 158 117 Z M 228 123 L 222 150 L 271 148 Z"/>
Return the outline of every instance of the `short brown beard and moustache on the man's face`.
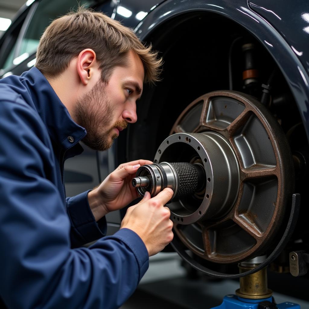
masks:
<path fill-rule="evenodd" d="M 116 121 L 111 125 L 113 117 L 112 105 L 107 98 L 104 83 L 101 81 L 76 101 L 73 119 L 86 129 L 87 135 L 82 141 L 93 150 L 109 149 L 117 138 L 117 134 L 110 137 L 112 130 L 116 127 L 122 129 L 127 127 L 125 120 Z"/>

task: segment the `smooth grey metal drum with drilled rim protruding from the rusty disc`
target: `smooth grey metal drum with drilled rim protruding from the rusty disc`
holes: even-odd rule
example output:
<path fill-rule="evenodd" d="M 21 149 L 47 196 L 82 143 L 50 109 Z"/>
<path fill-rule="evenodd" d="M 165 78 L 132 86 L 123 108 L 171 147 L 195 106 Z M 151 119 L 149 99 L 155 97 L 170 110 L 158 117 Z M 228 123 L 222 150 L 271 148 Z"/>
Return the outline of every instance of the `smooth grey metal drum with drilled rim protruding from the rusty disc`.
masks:
<path fill-rule="evenodd" d="M 173 134 L 159 146 L 154 163 L 171 160 L 175 153 L 181 154 L 178 160 L 201 162 L 206 181 L 202 201 L 193 195 L 179 197 L 169 204 L 172 220 L 191 224 L 228 213 L 239 191 L 239 167 L 226 139 L 215 132 Z"/>

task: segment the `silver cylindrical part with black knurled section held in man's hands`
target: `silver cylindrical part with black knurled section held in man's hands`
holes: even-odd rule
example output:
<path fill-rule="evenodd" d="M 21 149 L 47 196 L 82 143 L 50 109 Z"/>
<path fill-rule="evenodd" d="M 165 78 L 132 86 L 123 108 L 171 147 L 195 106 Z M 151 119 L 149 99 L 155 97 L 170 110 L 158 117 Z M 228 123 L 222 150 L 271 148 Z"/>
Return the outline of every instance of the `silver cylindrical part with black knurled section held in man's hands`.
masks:
<path fill-rule="evenodd" d="M 146 191 L 151 197 L 164 188 L 171 188 L 174 197 L 199 192 L 205 185 L 205 170 L 201 164 L 187 162 L 146 164 L 141 166 L 132 180 L 133 187 L 144 196 Z"/>

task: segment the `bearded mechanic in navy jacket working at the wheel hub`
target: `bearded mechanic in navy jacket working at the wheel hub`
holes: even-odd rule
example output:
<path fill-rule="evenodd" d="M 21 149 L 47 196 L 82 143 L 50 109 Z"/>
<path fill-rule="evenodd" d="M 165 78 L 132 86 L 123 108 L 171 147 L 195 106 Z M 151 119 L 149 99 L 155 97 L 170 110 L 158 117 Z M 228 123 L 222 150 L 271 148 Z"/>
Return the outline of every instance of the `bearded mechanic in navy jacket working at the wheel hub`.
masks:
<path fill-rule="evenodd" d="M 66 198 L 63 179 L 64 161 L 83 151 L 80 141 L 106 150 L 137 121 L 143 82 L 158 80 L 161 62 L 129 28 L 79 8 L 46 28 L 36 67 L 0 81 L 0 295 L 6 307 L 120 307 L 149 256 L 172 240 L 164 207 L 171 189 L 145 195 L 128 208 L 121 229 L 103 237 L 105 214 L 138 197 L 131 180 L 151 161 L 121 164 L 75 197 Z"/>

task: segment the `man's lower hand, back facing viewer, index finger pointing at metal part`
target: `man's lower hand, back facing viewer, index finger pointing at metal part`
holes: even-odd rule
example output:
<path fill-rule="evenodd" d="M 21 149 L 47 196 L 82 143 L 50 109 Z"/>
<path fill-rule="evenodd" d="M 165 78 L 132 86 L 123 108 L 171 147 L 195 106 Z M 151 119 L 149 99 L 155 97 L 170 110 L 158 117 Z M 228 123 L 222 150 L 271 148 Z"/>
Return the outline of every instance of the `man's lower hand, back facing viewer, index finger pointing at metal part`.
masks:
<path fill-rule="evenodd" d="M 172 196 L 170 188 L 165 188 L 153 198 L 146 192 L 138 204 L 128 208 L 121 222 L 120 228 L 128 228 L 141 237 L 149 256 L 157 254 L 173 240 L 171 212 L 164 207 Z"/>

